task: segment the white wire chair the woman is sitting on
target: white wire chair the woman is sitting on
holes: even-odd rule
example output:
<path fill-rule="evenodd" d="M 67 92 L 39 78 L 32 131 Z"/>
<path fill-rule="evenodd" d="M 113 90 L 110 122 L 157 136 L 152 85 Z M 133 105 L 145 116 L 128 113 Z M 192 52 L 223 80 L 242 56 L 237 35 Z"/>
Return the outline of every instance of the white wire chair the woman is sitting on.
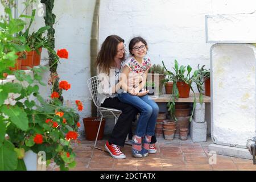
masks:
<path fill-rule="evenodd" d="M 97 107 L 98 112 L 101 115 L 101 121 L 100 121 L 100 125 L 98 126 L 98 133 L 97 133 L 97 136 L 96 136 L 96 140 L 94 142 L 94 148 L 102 150 L 101 148 L 96 147 L 98 134 L 100 133 L 102 119 L 105 118 L 105 117 L 114 117 L 115 118 L 115 123 L 117 123 L 117 119 L 118 119 L 119 115 L 122 113 L 122 111 L 118 110 L 118 109 L 113 109 L 113 108 L 110 108 L 110 107 L 102 107 L 100 105 L 100 101 L 98 100 L 98 85 L 100 85 L 101 82 L 98 79 L 98 76 L 94 76 L 94 77 L 89 78 L 88 81 L 87 81 L 87 84 L 88 84 L 90 95 L 92 96 L 92 100 L 94 102 L 94 105 Z"/>

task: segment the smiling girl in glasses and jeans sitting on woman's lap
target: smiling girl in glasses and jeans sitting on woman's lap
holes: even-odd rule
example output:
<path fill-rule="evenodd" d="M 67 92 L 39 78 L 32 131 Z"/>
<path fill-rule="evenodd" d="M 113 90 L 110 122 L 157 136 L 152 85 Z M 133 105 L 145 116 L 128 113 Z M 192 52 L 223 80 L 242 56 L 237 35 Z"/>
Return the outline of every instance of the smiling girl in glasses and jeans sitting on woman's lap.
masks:
<path fill-rule="evenodd" d="M 139 92 L 144 88 L 147 78 L 148 69 L 151 67 L 150 59 L 145 57 L 147 53 L 147 43 L 141 37 L 131 39 L 129 44 L 131 57 L 125 61 L 122 69 L 122 76 L 119 84 L 122 86 L 123 93 L 118 94 L 121 102 L 133 105 L 140 111 L 137 123 L 137 129 L 133 136 L 133 156 L 140 158 L 148 155 L 151 137 L 154 135 L 156 118 L 158 116 L 158 105 L 150 100 L 145 92 Z M 137 88 L 129 87 L 126 80 L 130 73 L 142 76 L 142 82 Z"/>

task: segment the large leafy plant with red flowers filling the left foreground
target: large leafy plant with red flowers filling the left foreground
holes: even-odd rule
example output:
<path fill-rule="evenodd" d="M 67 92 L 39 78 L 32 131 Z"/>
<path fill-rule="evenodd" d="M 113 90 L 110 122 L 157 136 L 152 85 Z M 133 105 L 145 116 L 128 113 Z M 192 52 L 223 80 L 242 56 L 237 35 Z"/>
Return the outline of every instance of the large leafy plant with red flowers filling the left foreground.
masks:
<path fill-rule="evenodd" d="M 12 18 L 9 3 L 1 3 L 9 18 L 1 19 L 0 78 L 4 72 L 10 72 L 9 67 L 14 67 L 19 52 L 29 50 L 24 36 L 18 34 L 26 22 L 20 18 Z M 48 100 L 40 96 L 39 85 L 46 86 L 41 74 L 46 70 L 46 67 L 41 66 L 32 68 L 34 77 L 26 75 L 24 71 L 14 71 L 19 82 L 0 85 L 1 171 L 25 170 L 23 159 L 27 151 L 35 154 L 44 151 L 47 163 L 54 160 L 61 170 L 76 166 L 71 143 L 77 142 L 79 115 L 71 106 L 64 106 L 57 99 L 57 92 L 52 92 Z M 61 92 L 70 87 L 67 81 L 59 82 Z M 10 93 L 18 95 L 10 98 Z M 10 99 L 15 104 L 6 104 L 5 101 Z M 80 101 L 76 101 L 76 105 L 79 111 L 83 109 Z"/>

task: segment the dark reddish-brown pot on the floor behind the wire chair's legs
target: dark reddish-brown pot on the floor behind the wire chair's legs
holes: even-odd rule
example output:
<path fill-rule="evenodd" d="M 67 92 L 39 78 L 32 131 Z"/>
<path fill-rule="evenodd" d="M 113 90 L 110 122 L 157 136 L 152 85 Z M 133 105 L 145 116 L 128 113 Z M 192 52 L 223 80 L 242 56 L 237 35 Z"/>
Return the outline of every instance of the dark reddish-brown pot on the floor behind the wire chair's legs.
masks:
<path fill-rule="evenodd" d="M 91 117 L 82 119 L 84 122 L 86 140 L 96 140 L 98 126 L 100 126 L 100 118 Z M 98 134 L 98 140 L 102 140 L 104 135 L 105 119 L 102 119 L 100 133 Z"/>

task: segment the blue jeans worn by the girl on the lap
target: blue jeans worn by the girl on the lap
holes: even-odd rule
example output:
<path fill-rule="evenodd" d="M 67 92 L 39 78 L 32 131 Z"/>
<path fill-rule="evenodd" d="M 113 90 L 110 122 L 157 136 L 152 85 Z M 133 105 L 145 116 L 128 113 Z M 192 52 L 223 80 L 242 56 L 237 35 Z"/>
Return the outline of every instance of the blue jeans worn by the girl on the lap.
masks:
<path fill-rule="evenodd" d="M 153 136 L 155 134 L 155 123 L 158 117 L 159 107 L 148 98 L 148 95 L 138 97 L 129 93 L 118 94 L 118 99 L 121 102 L 130 104 L 140 111 L 139 120 L 136 128 L 136 135 L 144 137 L 144 135 Z"/>

